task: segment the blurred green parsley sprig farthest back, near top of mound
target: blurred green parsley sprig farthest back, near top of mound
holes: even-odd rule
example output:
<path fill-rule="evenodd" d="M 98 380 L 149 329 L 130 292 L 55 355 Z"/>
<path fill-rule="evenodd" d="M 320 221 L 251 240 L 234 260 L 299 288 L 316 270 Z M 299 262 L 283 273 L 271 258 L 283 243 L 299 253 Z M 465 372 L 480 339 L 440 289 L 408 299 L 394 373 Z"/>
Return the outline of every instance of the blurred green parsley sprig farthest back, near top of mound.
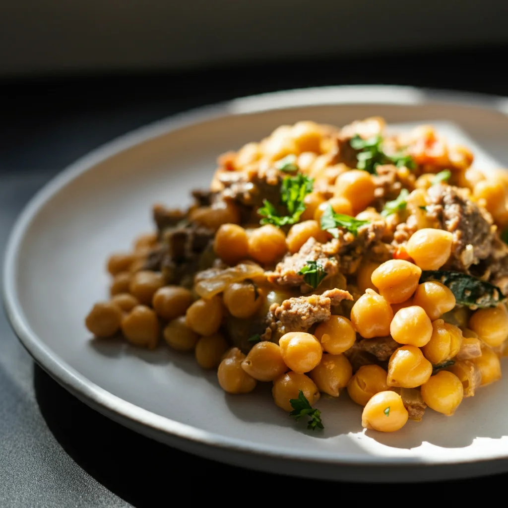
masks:
<path fill-rule="evenodd" d="M 394 164 L 397 168 L 406 167 L 415 169 L 416 164 L 413 158 L 403 152 L 387 155 L 383 151 L 383 137 L 376 135 L 363 139 L 358 134 L 353 136 L 350 145 L 357 153 L 357 169 L 363 169 L 369 173 L 376 174 L 376 167 L 382 164 Z"/>

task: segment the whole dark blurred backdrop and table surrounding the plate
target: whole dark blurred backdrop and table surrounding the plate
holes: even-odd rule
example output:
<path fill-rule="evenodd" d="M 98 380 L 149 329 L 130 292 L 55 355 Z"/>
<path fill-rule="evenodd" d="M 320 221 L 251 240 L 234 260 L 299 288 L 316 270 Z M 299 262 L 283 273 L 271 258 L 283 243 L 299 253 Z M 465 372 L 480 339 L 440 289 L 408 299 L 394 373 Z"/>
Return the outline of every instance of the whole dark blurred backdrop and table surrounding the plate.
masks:
<path fill-rule="evenodd" d="M 0 257 L 17 214 L 52 176 L 164 116 L 320 85 L 508 95 L 507 14 L 500 0 L 4 0 Z M 314 495 L 337 489 L 218 465 L 124 429 L 37 367 L 0 314 L 0 506 L 158 506 L 189 478 L 208 498 L 247 482 Z M 500 481 L 473 482 L 490 489 Z"/>

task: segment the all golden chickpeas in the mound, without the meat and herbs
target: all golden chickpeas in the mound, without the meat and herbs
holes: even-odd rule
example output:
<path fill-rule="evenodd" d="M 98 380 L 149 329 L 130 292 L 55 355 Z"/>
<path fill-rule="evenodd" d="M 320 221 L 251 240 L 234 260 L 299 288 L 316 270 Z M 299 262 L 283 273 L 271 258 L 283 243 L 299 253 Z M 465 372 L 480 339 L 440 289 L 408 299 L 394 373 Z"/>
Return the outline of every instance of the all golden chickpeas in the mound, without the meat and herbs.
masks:
<path fill-rule="evenodd" d="M 369 121 L 369 129 L 372 122 L 374 128 L 378 122 L 383 129 L 382 120 Z M 111 299 L 94 305 L 86 317 L 88 330 L 99 338 L 121 335 L 150 349 L 162 337 L 176 351 L 194 352 L 202 368 L 217 369 L 218 383 L 227 393 L 244 394 L 258 382 L 272 383 L 275 404 L 285 411 L 292 411 L 290 400 L 297 399 L 300 391 L 310 405 L 321 394 L 338 397 L 346 391 L 363 406 L 362 425 L 385 432 L 407 422 L 404 394 L 408 390 L 431 409 L 450 416 L 463 397 L 498 380 L 508 337 L 508 310 L 499 303 L 469 311 L 456 306 L 446 285 L 419 282 L 422 270 L 439 270 L 447 263 L 453 244 L 452 234 L 435 229 L 421 208 L 427 204 L 432 178 L 449 165 L 452 183 L 468 189 L 471 199 L 503 227 L 508 222 L 508 179 L 501 173 L 487 178 L 470 168 L 472 155 L 467 149 L 449 147 L 431 128 L 420 128 L 411 145 L 419 172 L 399 169 L 400 178 L 407 178 L 415 190 L 405 210 L 383 218 L 369 206 L 375 192 L 372 175 L 334 164 L 327 133 L 313 122 L 282 126 L 262 142 L 245 145 L 230 161 L 234 171 L 247 171 L 268 167 L 290 154 L 296 156 L 299 170 L 314 178 L 314 191 L 305 198 L 300 221 L 289 229 L 240 224 L 239 210 L 232 202 L 194 207 L 189 217 L 215 231 L 214 254 L 230 269 L 250 264 L 269 272 L 309 238 L 322 243 L 331 239 L 320 227 L 321 215 L 330 205 L 336 213 L 362 220 L 400 224 L 412 216 L 417 231 L 397 251 L 400 259 L 366 261 L 348 275 L 348 289 L 357 290 L 350 311 L 332 314 L 312 328 L 312 333 L 284 333 L 273 341 L 253 343 L 249 351 L 242 352 L 231 347 L 225 323 L 259 319 L 271 304 L 299 295 L 268 283 L 263 275 L 249 280 L 232 278 L 219 291 L 206 294 L 198 288 L 199 273 L 192 289 L 168 285 L 161 273 L 143 269 L 148 252 L 158 241 L 155 234 L 147 234 L 136 240 L 131 252 L 109 259 Z M 216 178 L 212 188 L 219 188 Z M 371 364 L 354 372 L 347 352 L 355 342 L 389 336 L 400 347 L 391 355 L 387 369 Z"/>

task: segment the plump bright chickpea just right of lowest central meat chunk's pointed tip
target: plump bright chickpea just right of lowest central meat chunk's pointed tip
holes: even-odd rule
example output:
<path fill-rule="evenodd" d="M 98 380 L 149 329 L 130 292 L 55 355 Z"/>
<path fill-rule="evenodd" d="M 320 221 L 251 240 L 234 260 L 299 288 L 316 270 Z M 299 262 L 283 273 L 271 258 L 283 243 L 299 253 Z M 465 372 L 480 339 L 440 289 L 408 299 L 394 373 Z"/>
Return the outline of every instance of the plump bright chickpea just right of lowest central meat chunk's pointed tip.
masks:
<path fill-rule="evenodd" d="M 367 289 L 351 309 L 351 322 L 364 338 L 385 337 L 390 333 L 393 310 L 375 291 Z"/>

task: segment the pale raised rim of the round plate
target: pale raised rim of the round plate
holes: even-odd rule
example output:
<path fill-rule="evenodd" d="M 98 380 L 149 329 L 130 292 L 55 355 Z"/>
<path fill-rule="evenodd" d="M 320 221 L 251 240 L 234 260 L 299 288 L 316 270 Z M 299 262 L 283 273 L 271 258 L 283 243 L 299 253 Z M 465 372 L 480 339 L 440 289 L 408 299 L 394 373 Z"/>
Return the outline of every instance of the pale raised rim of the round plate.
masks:
<path fill-rule="evenodd" d="M 184 111 L 176 115 L 141 126 L 86 153 L 77 161 L 49 180 L 23 207 L 15 220 L 5 248 L 2 296 L 10 325 L 28 353 L 60 385 L 78 399 L 102 414 L 131 429 L 145 433 L 159 441 L 171 439 L 172 445 L 186 449 L 195 443 L 208 449 L 220 449 L 260 457 L 321 463 L 335 466 L 429 466 L 458 465 L 464 463 L 494 461 L 508 458 L 508 451 L 493 455 L 476 453 L 472 458 L 422 461 L 414 456 L 389 457 L 382 455 L 358 456 L 351 453 L 310 451 L 298 452 L 252 443 L 248 439 L 231 438 L 171 420 L 128 402 L 94 384 L 39 339 L 31 330 L 22 311 L 16 291 L 17 252 L 26 229 L 41 208 L 68 183 L 89 168 L 106 161 L 120 152 L 141 145 L 151 139 L 178 131 L 187 126 L 227 116 L 248 115 L 263 111 L 290 109 L 292 107 L 326 106 L 340 104 L 392 104 L 419 105 L 424 103 L 477 107 L 508 114 L 508 98 L 501 96 L 462 92 L 445 89 L 417 88 L 399 85 L 339 85 L 310 87 L 268 92 L 233 99 Z M 165 437 L 166 439 L 164 439 Z M 187 450 L 188 451 L 188 450 Z"/>

